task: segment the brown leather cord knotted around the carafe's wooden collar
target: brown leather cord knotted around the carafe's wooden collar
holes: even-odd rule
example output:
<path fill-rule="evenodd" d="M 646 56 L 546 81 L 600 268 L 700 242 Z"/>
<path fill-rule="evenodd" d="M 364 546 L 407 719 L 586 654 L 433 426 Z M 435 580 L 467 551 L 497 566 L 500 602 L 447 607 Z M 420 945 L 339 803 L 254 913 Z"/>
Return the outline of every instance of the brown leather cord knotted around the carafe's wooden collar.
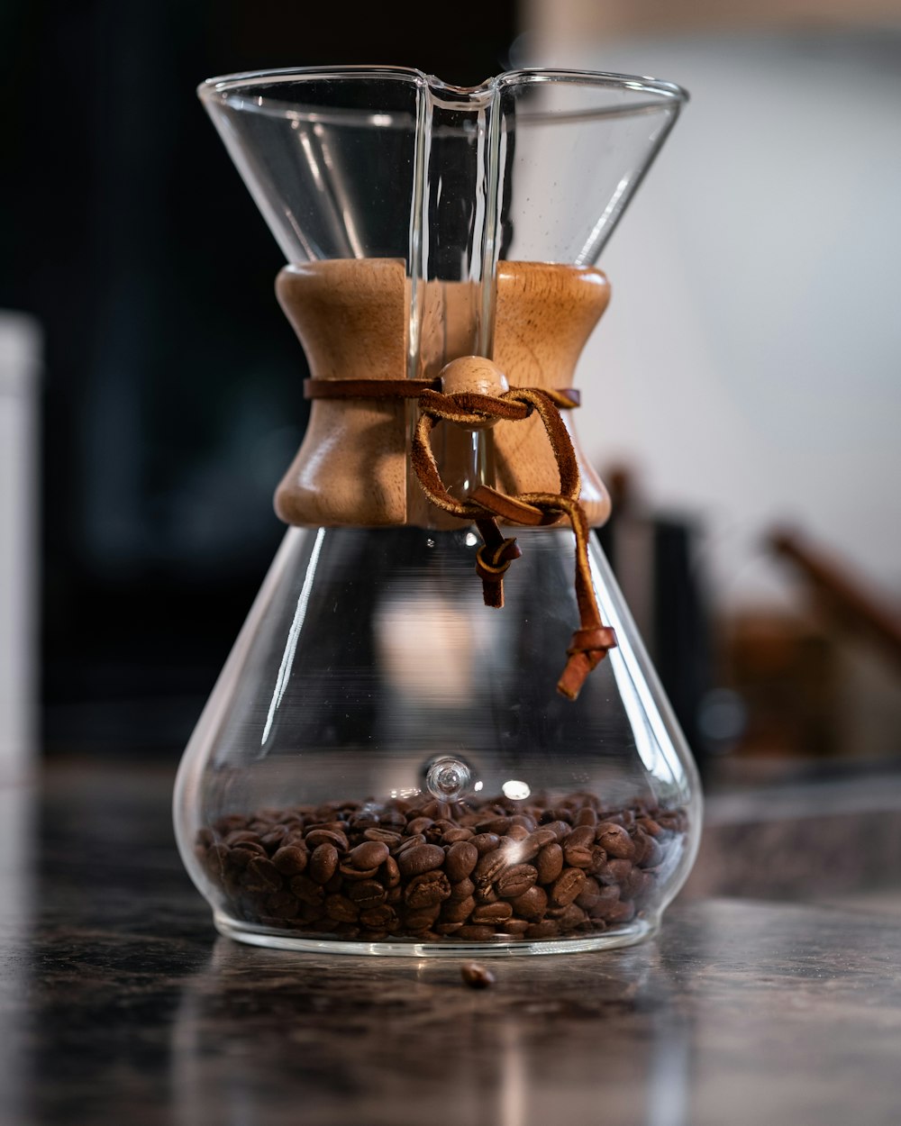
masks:
<path fill-rule="evenodd" d="M 586 677 L 616 645 L 616 634 L 600 620 L 588 560 L 590 530 L 579 503 L 581 482 L 579 464 L 569 431 L 560 414 L 579 405 L 572 388 L 544 391 L 537 387 L 511 387 L 501 395 L 474 392 L 444 394 L 440 381 L 427 379 L 306 379 L 307 399 L 418 399 L 417 420 L 410 462 L 426 497 L 443 511 L 473 521 L 482 537 L 475 570 L 482 580 L 487 606 L 503 606 L 503 575 L 521 554 L 515 538 L 505 538 L 498 519 L 508 524 L 539 526 L 556 524 L 565 517 L 576 538 L 576 600 L 579 628 L 567 650 L 567 664 L 557 680 L 557 691 L 574 700 Z M 438 422 L 475 426 L 485 420 L 521 421 L 537 412 L 547 434 L 560 473 L 559 493 L 518 493 L 509 495 L 489 485 L 480 485 L 465 500 L 453 497 L 441 481 L 431 449 L 430 435 Z"/>

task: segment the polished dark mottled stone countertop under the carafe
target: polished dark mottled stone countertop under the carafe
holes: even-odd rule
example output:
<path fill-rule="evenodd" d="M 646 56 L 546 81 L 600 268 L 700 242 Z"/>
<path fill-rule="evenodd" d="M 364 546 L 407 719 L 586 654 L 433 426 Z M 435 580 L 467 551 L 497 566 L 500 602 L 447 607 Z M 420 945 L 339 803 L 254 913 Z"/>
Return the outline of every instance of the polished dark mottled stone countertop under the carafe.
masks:
<path fill-rule="evenodd" d="M 896 1126 L 892 912 L 685 897 L 606 954 L 267 951 L 218 938 L 166 770 L 0 789 L 3 1126 Z M 29 798 L 33 802 L 29 802 Z"/>

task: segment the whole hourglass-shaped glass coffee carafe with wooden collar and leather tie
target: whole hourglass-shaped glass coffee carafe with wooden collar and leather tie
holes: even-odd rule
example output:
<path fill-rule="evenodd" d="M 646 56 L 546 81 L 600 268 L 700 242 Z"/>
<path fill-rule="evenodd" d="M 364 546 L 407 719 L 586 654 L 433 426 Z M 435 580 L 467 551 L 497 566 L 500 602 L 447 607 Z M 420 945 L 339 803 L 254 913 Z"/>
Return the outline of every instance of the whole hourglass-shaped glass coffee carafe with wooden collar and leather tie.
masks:
<path fill-rule="evenodd" d="M 653 933 L 701 793 L 591 531 L 572 383 L 685 91 L 351 66 L 199 96 L 284 251 L 312 401 L 176 784 L 216 927 L 389 955 Z"/>

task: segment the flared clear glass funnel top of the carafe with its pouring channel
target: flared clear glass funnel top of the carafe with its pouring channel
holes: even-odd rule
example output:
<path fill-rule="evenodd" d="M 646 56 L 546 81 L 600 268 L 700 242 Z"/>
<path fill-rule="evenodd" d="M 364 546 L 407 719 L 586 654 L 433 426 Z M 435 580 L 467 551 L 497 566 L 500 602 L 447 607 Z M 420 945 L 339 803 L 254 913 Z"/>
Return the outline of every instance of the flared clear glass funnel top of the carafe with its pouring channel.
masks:
<path fill-rule="evenodd" d="M 409 378 L 492 355 L 499 261 L 597 260 L 687 99 L 596 72 L 462 89 L 392 66 L 229 75 L 198 93 L 288 262 L 403 261 Z"/>

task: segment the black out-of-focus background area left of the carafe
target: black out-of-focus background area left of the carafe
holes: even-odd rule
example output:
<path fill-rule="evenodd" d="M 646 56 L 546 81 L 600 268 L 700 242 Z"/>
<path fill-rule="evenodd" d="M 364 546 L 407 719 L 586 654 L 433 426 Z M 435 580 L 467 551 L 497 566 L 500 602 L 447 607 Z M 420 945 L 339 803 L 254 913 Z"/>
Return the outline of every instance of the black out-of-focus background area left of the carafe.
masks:
<path fill-rule="evenodd" d="M 214 74 L 508 68 L 478 19 L 266 0 L 6 0 L 0 307 L 37 318 L 42 743 L 180 752 L 283 534 L 303 435 L 280 252 L 195 96 Z"/>

